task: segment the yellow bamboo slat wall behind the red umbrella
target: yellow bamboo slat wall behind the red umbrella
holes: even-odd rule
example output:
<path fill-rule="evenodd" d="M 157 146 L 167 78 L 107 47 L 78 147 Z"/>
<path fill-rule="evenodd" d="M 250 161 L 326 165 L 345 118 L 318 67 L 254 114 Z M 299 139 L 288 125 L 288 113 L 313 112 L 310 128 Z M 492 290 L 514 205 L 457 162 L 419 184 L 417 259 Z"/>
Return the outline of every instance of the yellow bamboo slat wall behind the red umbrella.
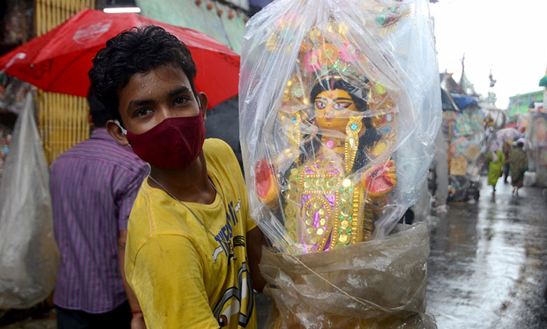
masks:
<path fill-rule="evenodd" d="M 36 0 L 34 3 L 36 36 L 45 34 L 83 8 L 95 8 L 95 0 Z M 48 164 L 74 144 L 88 138 L 87 99 L 39 90 L 36 106 L 38 129 Z"/>

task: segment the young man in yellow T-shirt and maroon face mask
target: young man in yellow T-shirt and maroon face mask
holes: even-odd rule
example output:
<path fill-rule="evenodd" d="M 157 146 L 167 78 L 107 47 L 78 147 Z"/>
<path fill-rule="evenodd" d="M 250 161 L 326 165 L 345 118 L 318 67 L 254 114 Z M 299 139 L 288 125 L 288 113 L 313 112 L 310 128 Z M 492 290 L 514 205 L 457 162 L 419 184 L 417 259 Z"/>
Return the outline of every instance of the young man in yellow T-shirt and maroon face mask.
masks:
<path fill-rule="evenodd" d="M 205 63 L 204 63 L 205 64 Z M 107 130 L 151 170 L 128 224 L 126 276 L 148 328 L 256 328 L 262 232 L 231 148 L 205 139 L 207 96 L 184 43 L 161 27 L 107 42 L 89 73 L 119 123 Z"/>

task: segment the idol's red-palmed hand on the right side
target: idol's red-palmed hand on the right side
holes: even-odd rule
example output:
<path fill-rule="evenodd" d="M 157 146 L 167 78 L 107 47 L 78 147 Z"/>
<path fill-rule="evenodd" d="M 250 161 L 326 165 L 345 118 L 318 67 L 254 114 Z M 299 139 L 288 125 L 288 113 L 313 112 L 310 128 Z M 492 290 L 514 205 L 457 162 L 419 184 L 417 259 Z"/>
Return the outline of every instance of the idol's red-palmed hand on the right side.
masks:
<path fill-rule="evenodd" d="M 367 190 L 367 196 L 373 200 L 379 200 L 381 197 L 391 192 L 397 185 L 395 162 L 389 160 L 385 165 L 372 167 L 363 173 L 361 183 Z"/>

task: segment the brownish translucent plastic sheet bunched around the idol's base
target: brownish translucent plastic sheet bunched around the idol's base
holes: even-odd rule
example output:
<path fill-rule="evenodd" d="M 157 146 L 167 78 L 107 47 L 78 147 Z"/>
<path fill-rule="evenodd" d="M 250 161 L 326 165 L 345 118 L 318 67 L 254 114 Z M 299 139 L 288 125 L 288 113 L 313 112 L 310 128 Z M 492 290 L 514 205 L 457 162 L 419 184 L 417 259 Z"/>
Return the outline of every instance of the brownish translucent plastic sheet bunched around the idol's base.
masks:
<path fill-rule="evenodd" d="M 264 248 L 260 272 L 275 303 L 264 328 L 437 328 L 424 313 L 428 255 L 424 222 L 298 258 Z"/>

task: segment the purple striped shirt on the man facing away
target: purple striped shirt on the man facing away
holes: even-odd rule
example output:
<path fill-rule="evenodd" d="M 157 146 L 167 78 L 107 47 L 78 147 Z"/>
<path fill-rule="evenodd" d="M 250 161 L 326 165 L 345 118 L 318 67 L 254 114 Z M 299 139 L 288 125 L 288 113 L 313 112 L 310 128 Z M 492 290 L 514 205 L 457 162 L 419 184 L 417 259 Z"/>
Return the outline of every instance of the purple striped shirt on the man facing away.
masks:
<path fill-rule="evenodd" d="M 127 300 L 118 261 L 118 231 L 148 165 L 104 129 L 51 165 L 50 192 L 61 261 L 53 302 L 98 314 Z"/>

